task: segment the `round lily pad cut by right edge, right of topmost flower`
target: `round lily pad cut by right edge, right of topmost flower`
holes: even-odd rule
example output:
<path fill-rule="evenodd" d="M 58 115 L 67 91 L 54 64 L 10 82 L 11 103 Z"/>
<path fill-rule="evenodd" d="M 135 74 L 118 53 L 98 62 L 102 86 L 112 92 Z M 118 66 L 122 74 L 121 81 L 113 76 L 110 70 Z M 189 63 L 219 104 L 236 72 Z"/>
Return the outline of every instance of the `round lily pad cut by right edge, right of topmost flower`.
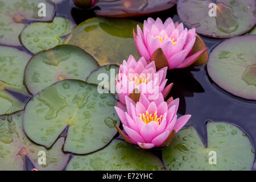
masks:
<path fill-rule="evenodd" d="M 243 35 L 218 44 L 210 53 L 207 70 L 222 89 L 256 100 L 256 35 Z"/>

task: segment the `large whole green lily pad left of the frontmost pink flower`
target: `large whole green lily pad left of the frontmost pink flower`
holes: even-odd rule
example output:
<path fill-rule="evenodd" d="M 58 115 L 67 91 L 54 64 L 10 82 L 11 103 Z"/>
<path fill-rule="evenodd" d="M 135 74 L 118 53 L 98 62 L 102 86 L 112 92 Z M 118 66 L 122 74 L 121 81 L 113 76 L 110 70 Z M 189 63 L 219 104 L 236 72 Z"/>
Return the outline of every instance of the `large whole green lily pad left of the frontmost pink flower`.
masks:
<path fill-rule="evenodd" d="M 80 80 L 59 81 L 27 104 L 23 125 L 35 143 L 51 147 L 68 127 L 64 151 L 87 154 L 112 140 L 119 119 L 112 94 L 99 94 L 97 85 Z"/>

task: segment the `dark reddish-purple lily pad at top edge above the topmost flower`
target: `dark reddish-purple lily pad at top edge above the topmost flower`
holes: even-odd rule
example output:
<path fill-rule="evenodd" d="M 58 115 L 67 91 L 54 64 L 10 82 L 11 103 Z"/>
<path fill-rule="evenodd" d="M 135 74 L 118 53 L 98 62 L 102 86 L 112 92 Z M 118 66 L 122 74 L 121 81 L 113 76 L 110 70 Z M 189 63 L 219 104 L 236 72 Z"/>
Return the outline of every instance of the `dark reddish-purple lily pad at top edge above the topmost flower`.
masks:
<path fill-rule="evenodd" d="M 170 9 L 175 4 L 176 0 L 106 0 L 96 3 L 100 10 L 95 10 L 95 13 L 118 18 L 143 16 Z"/>

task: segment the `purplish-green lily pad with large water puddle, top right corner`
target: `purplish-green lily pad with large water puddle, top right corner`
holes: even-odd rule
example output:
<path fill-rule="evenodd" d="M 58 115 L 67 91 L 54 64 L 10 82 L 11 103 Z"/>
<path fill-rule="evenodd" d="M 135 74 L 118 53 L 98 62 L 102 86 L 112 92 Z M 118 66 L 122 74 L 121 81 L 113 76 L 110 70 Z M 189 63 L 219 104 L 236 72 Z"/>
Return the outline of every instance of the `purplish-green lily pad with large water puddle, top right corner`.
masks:
<path fill-rule="evenodd" d="M 216 3 L 217 16 L 210 16 L 210 3 Z M 189 28 L 213 38 L 230 38 L 245 34 L 256 22 L 255 0 L 180 0 L 177 13 Z"/>

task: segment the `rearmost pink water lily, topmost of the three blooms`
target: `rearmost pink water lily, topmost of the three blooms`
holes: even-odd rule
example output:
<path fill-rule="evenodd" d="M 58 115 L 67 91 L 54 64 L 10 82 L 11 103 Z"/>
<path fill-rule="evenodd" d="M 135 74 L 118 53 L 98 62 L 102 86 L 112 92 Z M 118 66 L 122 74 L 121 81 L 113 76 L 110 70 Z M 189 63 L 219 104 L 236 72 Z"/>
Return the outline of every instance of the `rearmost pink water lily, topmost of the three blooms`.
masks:
<path fill-rule="evenodd" d="M 138 52 L 146 60 L 151 60 L 156 49 L 162 48 L 168 61 L 168 69 L 188 67 L 205 51 L 203 49 L 191 55 L 196 41 L 195 28 L 184 29 L 183 23 L 174 23 L 171 18 L 164 23 L 160 18 L 144 20 L 143 32 L 137 26 L 134 41 Z"/>

